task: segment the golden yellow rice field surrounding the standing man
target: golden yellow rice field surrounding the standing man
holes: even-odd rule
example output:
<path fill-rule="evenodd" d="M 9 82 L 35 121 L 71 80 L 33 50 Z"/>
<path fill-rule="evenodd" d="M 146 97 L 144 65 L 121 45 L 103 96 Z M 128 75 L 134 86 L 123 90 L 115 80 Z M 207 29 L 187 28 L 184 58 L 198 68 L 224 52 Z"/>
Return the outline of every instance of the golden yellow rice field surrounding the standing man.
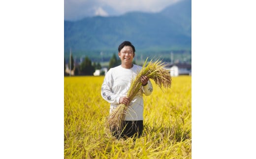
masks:
<path fill-rule="evenodd" d="M 109 103 L 100 95 L 104 76 L 64 77 L 65 159 L 191 159 L 191 76 L 172 77 L 144 96 L 141 138 L 117 140 L 104 127 Z M 154 81 L 151 81 L 154 84 Z"/>

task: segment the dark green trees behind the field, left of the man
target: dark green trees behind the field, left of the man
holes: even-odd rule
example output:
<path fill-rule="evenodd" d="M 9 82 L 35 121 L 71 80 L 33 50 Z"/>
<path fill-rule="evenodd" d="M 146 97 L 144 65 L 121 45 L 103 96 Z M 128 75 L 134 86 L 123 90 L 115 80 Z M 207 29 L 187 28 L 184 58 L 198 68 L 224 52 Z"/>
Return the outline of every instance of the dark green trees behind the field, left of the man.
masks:
<path fill-rule="evenodd" d="M 113 54 L 112 58 L 108 64 L 108 70 L 112 67 L 118 66 L 121 64 L 121 60 L 117 58 L 116 54 Z M 72 75 L 94 75 L 96 69 L 101 69 L 100 63 L 92 62 L 88 56 L 85 57 L 82 63 L 75 64 L 73 56 L 68 60 L 68 64 L 66 65 L 64 58 L 64 76 L 69 75 L 69 70 L 73 72 Z M 68 71 L 67 71 L 68 70 Z M 104 75 L 105 72 L 101 71 L 100 75 Z"/>

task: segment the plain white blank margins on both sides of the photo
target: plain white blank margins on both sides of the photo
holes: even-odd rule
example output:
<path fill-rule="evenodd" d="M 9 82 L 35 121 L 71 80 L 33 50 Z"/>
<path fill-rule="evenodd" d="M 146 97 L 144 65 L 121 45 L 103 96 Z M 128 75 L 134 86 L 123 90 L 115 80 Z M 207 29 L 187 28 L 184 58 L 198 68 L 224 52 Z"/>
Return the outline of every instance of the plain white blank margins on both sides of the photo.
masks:
<path fill-rule="evenodd" d="M 192 158 L 255 157 L 252 0 L 192 0 Z M 0 4 L 1 158 L 64 158 L 64 2 Z M 33 67 L 31 67 L 33 66 Z"/>

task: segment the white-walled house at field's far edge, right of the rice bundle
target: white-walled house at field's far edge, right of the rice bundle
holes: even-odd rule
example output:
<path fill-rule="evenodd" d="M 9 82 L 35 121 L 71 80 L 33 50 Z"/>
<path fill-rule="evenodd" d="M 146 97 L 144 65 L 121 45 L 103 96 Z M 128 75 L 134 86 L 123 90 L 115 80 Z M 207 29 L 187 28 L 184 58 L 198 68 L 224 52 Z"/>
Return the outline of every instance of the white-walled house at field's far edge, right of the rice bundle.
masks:
<path fill-rule="evenodd" d="M 187 63 L 166 64 L 164 67 L 172 77 L 179 75 L 192 75 L 192 66 Z"/>

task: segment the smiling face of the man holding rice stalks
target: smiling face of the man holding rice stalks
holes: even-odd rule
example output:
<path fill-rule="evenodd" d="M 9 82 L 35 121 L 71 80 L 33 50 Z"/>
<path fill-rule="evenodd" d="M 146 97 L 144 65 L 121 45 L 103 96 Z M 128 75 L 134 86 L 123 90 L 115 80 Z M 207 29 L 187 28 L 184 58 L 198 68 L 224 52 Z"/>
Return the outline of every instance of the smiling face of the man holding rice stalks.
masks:
<path fill-rule="evenodd" d="M 120 57 L 122 63 L 132 63 L 132 60 L 135 56 L 133 50 L 130 46 L 125 46 L 119 53 L 118 56 Z"/>

